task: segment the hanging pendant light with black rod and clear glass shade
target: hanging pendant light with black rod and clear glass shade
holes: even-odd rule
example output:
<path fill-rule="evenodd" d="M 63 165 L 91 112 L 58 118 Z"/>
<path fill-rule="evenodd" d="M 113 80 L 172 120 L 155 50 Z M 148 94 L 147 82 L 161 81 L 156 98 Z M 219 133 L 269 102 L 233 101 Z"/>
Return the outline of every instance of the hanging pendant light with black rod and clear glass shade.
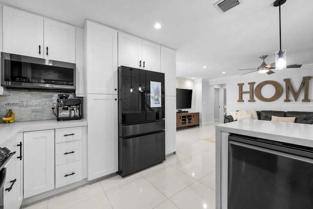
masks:
<path fill-rule="evenodd" d="M 280 6 L 283 5 L 286 0 L 276 0 L 274 6 L 279 7 L 279 51 L 275 52 L 275 70 L 286 69 L 287 60 L 286 60 L 286 50 L 282 50 L 282 34 L 281 34 L 281 20 L 280 20 Z"/>

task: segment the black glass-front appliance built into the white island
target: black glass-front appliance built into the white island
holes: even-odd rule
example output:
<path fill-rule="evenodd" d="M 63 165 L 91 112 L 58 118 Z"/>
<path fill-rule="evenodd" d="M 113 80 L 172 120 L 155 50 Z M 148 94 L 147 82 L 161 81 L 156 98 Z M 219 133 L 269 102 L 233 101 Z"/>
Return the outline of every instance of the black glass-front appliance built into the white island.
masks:
<path fill-rule="evenodd" d="M 313 209 L 313 148 L 231 134 L 228 209 Z"/>

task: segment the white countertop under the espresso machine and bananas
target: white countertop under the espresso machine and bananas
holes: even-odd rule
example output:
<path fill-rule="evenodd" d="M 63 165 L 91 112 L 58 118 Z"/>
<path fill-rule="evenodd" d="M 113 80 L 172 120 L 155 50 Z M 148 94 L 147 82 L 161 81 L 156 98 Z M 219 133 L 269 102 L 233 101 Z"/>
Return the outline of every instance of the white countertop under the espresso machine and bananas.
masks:
<path fill-rule="evenodd" d="M 18 132 L 87 126 L 87 120 L 37 120 L 0 124 L 0 145 Z"/>

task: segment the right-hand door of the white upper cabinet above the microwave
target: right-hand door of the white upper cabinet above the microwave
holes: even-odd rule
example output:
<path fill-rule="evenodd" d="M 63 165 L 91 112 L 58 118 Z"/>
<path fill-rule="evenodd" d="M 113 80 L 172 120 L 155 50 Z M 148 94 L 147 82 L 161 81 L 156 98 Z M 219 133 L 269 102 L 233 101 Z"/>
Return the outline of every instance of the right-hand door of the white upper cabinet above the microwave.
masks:
<path fill-rule="evenodd" d="M 75 27 L 45 19 L 45 59 L 75 63 Z"/>

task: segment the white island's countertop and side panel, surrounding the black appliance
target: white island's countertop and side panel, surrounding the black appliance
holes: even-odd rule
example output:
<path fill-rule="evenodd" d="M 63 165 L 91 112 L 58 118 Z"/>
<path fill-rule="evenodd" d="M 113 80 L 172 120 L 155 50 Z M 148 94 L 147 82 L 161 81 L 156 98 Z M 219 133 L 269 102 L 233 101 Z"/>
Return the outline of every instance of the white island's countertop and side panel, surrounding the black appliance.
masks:
<path fill-rule="evenodd" d="M 217 209 L 227 209 L 228 136 L 230 133 L 313 147 L 311 124 L 245 119 L 216 126 Z"/>

